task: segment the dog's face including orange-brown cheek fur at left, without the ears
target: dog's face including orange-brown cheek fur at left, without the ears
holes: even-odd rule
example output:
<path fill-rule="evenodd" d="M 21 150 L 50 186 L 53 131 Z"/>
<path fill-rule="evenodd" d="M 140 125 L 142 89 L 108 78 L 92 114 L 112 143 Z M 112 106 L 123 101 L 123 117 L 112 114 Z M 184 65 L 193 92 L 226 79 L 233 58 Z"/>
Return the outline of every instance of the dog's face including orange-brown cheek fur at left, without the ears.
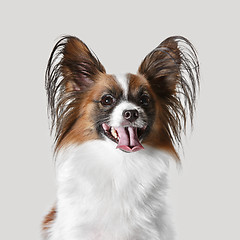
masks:
<path fill-rule="evenodd" d="M 156 99 L 143 76 L 101 73 L 80 95 L 74 104 L 77 120 L 64 141 L 105 139 L 125 152 L 143 149 L 156 115 Z"/>

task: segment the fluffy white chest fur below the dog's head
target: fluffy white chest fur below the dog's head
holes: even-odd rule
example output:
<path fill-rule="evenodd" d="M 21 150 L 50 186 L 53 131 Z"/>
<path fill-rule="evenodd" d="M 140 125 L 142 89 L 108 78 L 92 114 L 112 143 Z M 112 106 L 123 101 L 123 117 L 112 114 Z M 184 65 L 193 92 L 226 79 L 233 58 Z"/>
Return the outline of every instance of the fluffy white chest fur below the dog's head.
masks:
<path fill-rule="evenodd" d="M 50 240 L 173 240 L 167 216 L 168 155 L 124 153 L 105 140 L 61 150 Z"/>

